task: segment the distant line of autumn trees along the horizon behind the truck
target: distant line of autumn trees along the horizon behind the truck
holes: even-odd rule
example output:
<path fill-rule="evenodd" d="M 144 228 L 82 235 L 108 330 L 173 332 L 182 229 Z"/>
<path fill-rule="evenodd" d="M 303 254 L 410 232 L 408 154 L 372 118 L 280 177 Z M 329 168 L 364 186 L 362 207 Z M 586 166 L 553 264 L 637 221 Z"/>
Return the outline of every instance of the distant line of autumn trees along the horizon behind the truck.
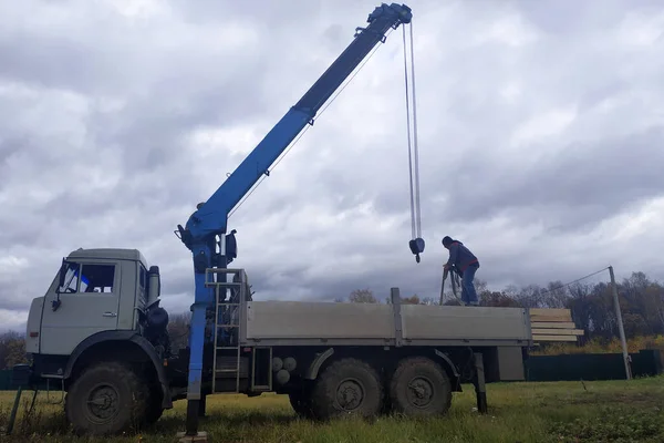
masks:
<path fill-rule="evenodd" d="M 608 272 L 606 280 L 609 280 Z M 475 286 L 480 306 L 570 309 L 577 328 L 585 331 L 584 336 L 579 338 L 581 346 L 588 340 L 610 341 L 619 336 L 613 293 L 609 281 L 595 284 L 581 281 L 573 285 L 551 281 L 546 286 L 529 285 L 521 288 L 512 286 L 500 291 L 491 291 L 486 281 L 478 279 Z M 664 334 L 664 285 L 639 271 L 632 272 L 616 286 L 626 338 Z M 450 290 L 446 291 L 444 300 L 444 305 L 459 305 Z M 388 303 L 390 295 L 376 296 L 373 290 L 364 288 L 356 289 L 346 298 L 338 298 L 334 301 Z M 417 295 L 402 297 L 401 302 L 439 305 L 438 299 L 421 298 Z M 189 320 L 189 312 L 170 316 L 168 330 L 173 348 L 180 349 L 187 346 Z M 14 364 L 27 361 L 24 334 L 13 331 L 1 334 L 0 369 L 11 369 Z"/>

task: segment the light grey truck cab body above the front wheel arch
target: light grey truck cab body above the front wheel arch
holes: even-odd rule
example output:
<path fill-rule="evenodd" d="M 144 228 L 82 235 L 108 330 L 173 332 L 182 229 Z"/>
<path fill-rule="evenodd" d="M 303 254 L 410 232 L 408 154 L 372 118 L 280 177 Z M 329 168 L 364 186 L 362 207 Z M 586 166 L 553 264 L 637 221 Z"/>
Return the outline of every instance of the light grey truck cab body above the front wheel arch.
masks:
<path fill-rule="evenodd" d="M 32 300 L 27 351 L 71 356 L 83 341 L 101 332 L 142 333 L 142 319 L 158 301 L 158 268 L 148 271 L 141 251 L 74 250 L 63 258 L 46 293 Z"/>

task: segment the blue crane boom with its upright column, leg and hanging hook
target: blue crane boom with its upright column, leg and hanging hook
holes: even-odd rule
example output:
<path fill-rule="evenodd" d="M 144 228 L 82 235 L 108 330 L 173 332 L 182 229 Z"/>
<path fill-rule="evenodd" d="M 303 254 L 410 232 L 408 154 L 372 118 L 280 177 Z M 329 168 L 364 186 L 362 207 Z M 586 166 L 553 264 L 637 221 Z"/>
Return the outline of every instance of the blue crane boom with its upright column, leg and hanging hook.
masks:
<path fill-rule="evenodd" d="M 304 93 L 286 115 L 272 127 L 256 148 L 240 163 L 219 188 L 188 219 L 186 227 L 178 225 L 179 238 L 194 258 L 195 301 L 191 307 L 189 337 L 189 372 L 187 391 L 187 435 L 197 431 L 200 401 L 203 352 L 206 328 L 206 308 L 214 301 L 214 290 L 206 288 L 207 268 L 226 268 L 237 257 L 235 230 L 225 237 L 224 253 L 216 253 L 216 236 L 227 231 L 230 210 L 284 152 L 298 134 L 308 125 L 321 106 L 357 68 L 370 51 L 384 42 L 385 33 L 400 24 L 409 23 L 411 8 L 398 3 L 382 3 L 369 16 L 366 28 L 357 28 L 353 41 Z M 411 241 L 411 249 L 418 254 L 424 243 Z M 416 246 L 414 246 L 416 245 Z M 220 245 L 221 246 L 221 245 Z"/>

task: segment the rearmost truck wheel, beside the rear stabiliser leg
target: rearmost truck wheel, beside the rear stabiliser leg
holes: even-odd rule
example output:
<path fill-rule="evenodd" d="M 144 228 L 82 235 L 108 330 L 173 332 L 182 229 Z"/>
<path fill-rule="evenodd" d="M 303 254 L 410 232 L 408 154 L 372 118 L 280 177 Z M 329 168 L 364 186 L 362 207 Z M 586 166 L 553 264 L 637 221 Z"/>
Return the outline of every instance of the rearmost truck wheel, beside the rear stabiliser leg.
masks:
<path fill-rule="evenodd" d="M 409 416 L 447 413 L 452 405 L 452 383 L 439 364 L 425 357 L 400 362 L 390 381 L 393 412 Z"/>

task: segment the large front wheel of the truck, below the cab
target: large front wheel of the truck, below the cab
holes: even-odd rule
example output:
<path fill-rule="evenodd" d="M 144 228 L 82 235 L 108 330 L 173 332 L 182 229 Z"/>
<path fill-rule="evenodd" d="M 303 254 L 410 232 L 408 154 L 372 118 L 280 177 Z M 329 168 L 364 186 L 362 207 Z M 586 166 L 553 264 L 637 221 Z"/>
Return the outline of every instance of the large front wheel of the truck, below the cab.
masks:
<path fill-rule="evenodd" d="M 73 382 L 65 411 L 77 434 L 116 434 L 143 424 L 147 401 L 146 383 L 128 365 L 101 362 Z"/>

